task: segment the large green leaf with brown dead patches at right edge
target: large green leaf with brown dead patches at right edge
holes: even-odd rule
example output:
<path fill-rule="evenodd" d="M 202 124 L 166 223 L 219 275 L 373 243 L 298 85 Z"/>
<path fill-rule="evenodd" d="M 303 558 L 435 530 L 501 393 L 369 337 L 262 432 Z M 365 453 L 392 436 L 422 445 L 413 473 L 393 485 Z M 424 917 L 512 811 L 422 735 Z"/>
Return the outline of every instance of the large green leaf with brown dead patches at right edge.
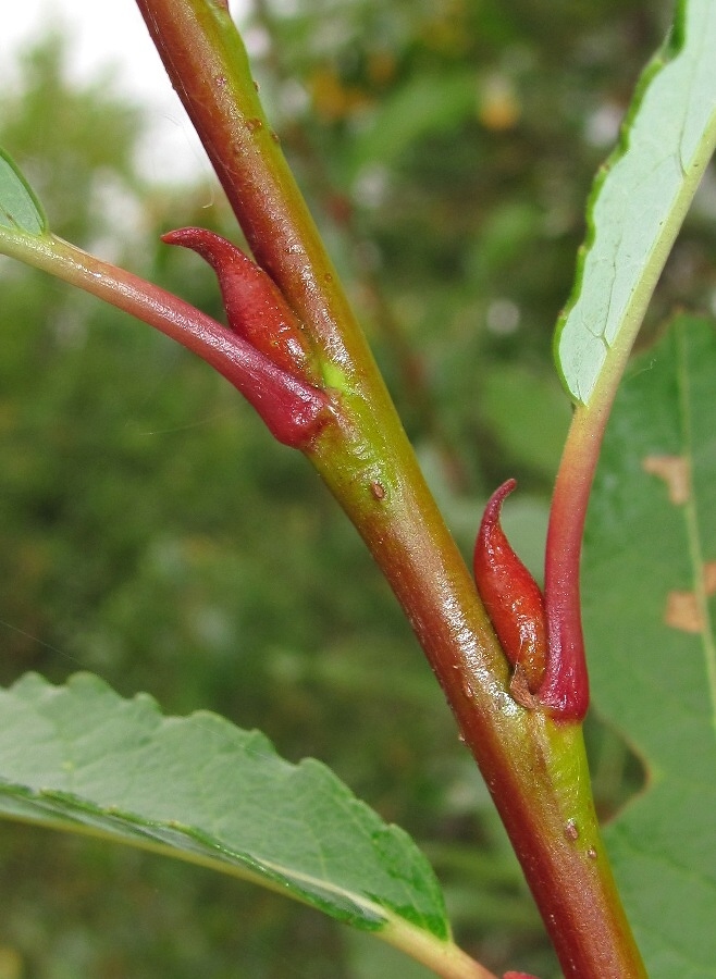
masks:
<path fill-rule="evenodd" d="M 607 842 L 652 979 L 716 963 L 715 379 L 716 329 L 688 317 L 633 362 L 584 540 L 594 704 L 649 774 Z"/>

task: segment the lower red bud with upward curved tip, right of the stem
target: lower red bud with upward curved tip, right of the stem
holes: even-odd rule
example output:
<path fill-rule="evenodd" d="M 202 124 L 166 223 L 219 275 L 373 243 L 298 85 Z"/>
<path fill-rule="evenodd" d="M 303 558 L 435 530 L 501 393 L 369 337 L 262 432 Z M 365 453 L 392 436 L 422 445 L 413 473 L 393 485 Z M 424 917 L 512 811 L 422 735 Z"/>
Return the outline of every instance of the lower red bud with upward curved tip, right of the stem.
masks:
<path fill-rule="evenodd" d="M 508 480 L 487 501 L 474 544 L 474 580 L 505 655 L 515 667 L 510 690 L 524 707 L 534 707 L 544 678 L 547 632 L 544 599 L 513 550 L 499 513 L 517 483 Z"/>

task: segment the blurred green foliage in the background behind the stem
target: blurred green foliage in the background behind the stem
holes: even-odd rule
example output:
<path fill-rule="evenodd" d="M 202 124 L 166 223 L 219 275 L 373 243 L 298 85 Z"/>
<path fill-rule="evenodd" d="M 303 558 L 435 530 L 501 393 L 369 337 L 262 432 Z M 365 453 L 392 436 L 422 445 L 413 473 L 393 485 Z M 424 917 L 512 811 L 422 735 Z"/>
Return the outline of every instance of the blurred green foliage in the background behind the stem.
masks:
<path fill-rule="evenodd" d="M 254 0 L 270 116 L 466 556 L 489 493 L 540 573 L 569 407 L 551 360 L 584 200 L 670 7 L 644 0 Z M 215 188 L 149 181 L 141 108 L 18 52 L 0 142 L 54 232 L 221 317 L 159 235 L 237 237 Z M 713 171 L 652 322 L 714 307 Z M 210 207 L 207 202 L 212 201 Z M 233 388 L 145 325 L 0 259 L 0 680 L 100 673 L 314 755 L 411 832 L 459 942 L 557 975 L 487 792 L 357 535 Z M 592 719 L 605 816 L 639 785 Z M 425 976 L 317 913 L 200 869 L 0 826 L 0 979 Z"/>

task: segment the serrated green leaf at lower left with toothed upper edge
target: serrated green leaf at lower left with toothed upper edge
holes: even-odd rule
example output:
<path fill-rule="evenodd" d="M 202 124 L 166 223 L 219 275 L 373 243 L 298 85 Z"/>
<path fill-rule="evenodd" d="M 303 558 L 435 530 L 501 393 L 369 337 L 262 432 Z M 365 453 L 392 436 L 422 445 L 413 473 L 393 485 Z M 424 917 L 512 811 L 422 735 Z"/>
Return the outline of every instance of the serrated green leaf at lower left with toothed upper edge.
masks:
<path fill-rule="evenodd" d="M 406 922 L 448 945 L 443 896 L 410 838 L 319 761 L 291 765 L 209 712 L 162 717 L 88 673 L 0 692 L 0 815 L 248 878 L 366 931 Z M 404 943 L 405 946 L 405 943 Z"/>

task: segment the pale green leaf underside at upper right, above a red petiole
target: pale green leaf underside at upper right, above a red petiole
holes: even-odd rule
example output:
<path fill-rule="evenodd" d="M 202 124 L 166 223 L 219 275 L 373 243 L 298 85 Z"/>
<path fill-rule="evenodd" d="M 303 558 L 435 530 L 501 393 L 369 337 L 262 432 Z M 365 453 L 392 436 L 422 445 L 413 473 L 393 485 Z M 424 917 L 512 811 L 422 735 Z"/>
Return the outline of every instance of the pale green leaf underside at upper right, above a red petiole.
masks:
<path fill-rule="evenodd" d="M 683 0 L 645 69 L 590 199 L 587 241 L 557 324 L 568 393 L 589 405 L 624 369 L 664 262 L 716 144 L 716 5 Z"/>

